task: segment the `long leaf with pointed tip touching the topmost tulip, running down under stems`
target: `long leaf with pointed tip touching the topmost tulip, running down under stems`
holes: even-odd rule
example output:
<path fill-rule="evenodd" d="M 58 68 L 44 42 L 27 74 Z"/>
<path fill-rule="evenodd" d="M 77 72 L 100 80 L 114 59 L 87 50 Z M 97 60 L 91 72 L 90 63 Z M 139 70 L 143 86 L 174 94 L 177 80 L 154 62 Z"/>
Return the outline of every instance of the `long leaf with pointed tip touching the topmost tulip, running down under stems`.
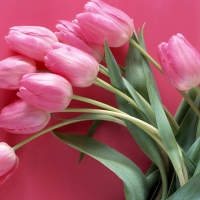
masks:
<path fill-rule="evenodd" d="M 105 57 L 106 57 L 106 64 L 109 70 L 109 75 L 110 75 L 110 80 L 111 80 L 112 85 L 118 90 L 120 90 L 121 92 L 123 92 L 124 94 L 127 94 L 126 87 L 124 85 L 124 81 L 121 76 L 119 67 L 106 42 L 105 42 Z M 120 110 L 122 110 L 123 112 L 126 112 L 130 116 L 141 119 L 140 113 L 136 109 L 134 109 L 129 103 L 127 103 L 126 100 L 124 100 L 118 95 L 116 95 L 116 100 L 117 100 Z M 144 132 L 135 124 L 127 120 L 124 120 L 124 121 L 126 123 L 126 126 L 130 134 L 135 139 L 135 141 L 140 146 L 140 148 L 158 166 L 161 173 L 161 177 L 162 177 L 162 186 L 163 186 L 162 197 L 164 199 L 165 196 L 167 195 L 167 178 L 166 178 L 163 160 L 161 158 L 159 148 L 156 142 L 146 132 Z"/>

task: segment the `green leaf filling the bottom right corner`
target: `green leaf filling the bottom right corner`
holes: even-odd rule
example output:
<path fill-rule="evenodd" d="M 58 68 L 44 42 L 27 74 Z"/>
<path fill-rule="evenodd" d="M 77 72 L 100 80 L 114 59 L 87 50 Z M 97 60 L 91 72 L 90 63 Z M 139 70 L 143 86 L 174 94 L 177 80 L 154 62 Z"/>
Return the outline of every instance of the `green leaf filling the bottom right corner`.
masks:
<path fill-rule="evenodd" d="M 199 200 L 200 197 L 200 173 L 192 177 L 183 187 L 179 188 L 167 200 Z"/>

